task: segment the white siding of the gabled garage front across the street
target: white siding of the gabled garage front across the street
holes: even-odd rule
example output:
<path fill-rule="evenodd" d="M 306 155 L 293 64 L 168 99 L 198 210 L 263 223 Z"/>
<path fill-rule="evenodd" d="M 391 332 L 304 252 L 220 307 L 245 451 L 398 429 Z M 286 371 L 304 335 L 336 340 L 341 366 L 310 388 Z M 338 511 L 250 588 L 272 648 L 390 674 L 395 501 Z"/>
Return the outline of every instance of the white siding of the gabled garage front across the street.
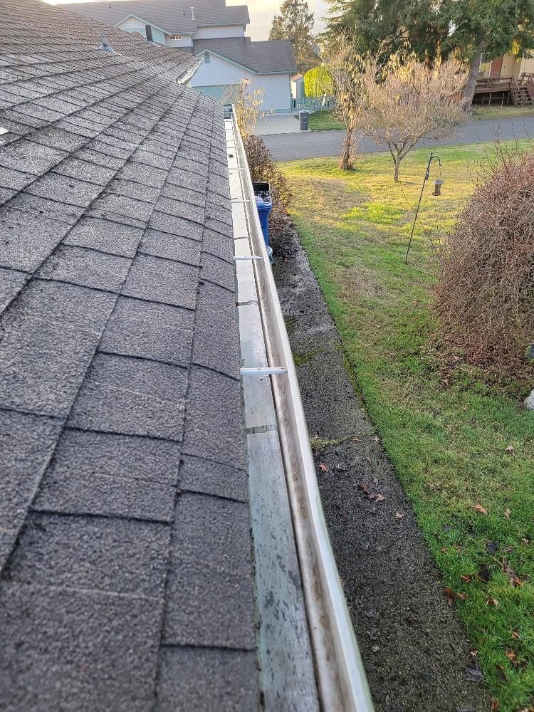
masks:
<path fill-rule="evenodd" d="M 201 55 L 204 58 L 204 55 Z M 289 111 L 291 107 L 290 74 L 253 74 L 235 64 L 210 53 L 211 61 L 204 61 L 191 80 L 191 86 L 209 88 L 216 95 L 216 87 L 239 84 L 241 79 L 250 80 L 250 91 L 263 89 L 263 109 Z"/>

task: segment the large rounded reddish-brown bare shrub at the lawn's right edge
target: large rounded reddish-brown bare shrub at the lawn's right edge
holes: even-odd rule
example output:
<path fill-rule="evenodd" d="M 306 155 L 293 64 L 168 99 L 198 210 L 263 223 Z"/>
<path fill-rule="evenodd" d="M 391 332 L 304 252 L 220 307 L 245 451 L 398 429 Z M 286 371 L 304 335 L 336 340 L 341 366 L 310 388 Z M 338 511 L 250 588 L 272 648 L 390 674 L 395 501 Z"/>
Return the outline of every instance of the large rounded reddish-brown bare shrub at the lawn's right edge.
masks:
<path fill-rule="evenodd" d="M 468 360 L 525 373 L 534 334 L 534 153 L 499 151 L 481 177 L 446 242 L 436 311 Z"/>

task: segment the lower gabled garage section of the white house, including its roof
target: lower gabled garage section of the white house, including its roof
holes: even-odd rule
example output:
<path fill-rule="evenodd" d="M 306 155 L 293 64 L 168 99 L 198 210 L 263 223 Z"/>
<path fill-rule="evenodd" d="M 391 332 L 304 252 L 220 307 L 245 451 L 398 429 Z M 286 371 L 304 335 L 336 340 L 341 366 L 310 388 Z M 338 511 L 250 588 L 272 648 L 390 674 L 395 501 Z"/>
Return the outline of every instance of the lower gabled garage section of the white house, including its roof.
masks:
<path fill-rule="evenodd" d="M 291 109 L 291 75 L 295 58 L 285 40 L 253 42 L 248 37 L 195 40 L 194 55 L 202 60 L 191 85 L 204 94 L 224 98 L 232 85 L 248 80 L 248 90 L 263 92 L 263 109 Z"/>

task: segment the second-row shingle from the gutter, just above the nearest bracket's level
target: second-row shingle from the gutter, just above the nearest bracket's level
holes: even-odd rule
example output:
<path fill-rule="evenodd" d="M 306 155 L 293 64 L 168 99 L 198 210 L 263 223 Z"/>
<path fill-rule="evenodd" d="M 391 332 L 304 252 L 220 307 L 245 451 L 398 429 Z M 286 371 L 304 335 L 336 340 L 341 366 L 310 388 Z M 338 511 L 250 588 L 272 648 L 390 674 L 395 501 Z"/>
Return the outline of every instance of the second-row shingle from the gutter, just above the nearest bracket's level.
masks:
<path fill-rule="evenodd" d="M 193 330 L 192 311 L 121 297 L 105 330 L 100 349 L 187 367 L 191 358 Z"/>

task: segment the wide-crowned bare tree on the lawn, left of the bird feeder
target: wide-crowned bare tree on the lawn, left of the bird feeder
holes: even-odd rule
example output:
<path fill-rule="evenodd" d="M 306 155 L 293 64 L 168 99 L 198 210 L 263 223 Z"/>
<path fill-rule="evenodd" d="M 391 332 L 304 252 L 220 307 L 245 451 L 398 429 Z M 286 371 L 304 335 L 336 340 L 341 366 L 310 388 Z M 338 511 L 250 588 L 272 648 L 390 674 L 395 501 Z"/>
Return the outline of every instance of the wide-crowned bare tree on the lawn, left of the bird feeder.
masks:
<path fill-rule="evenodd" d="M 368 56 L 361 69 L 357 129 L 387 145 L 397 182 L 402 160 L 419 141 L 450 137 L 466 121 L 468 113 L 462 108 L 466 73 L 457 61 L 436 62 L 429 68 L 403 52 L 392 55 L 384 66 Z"/>

